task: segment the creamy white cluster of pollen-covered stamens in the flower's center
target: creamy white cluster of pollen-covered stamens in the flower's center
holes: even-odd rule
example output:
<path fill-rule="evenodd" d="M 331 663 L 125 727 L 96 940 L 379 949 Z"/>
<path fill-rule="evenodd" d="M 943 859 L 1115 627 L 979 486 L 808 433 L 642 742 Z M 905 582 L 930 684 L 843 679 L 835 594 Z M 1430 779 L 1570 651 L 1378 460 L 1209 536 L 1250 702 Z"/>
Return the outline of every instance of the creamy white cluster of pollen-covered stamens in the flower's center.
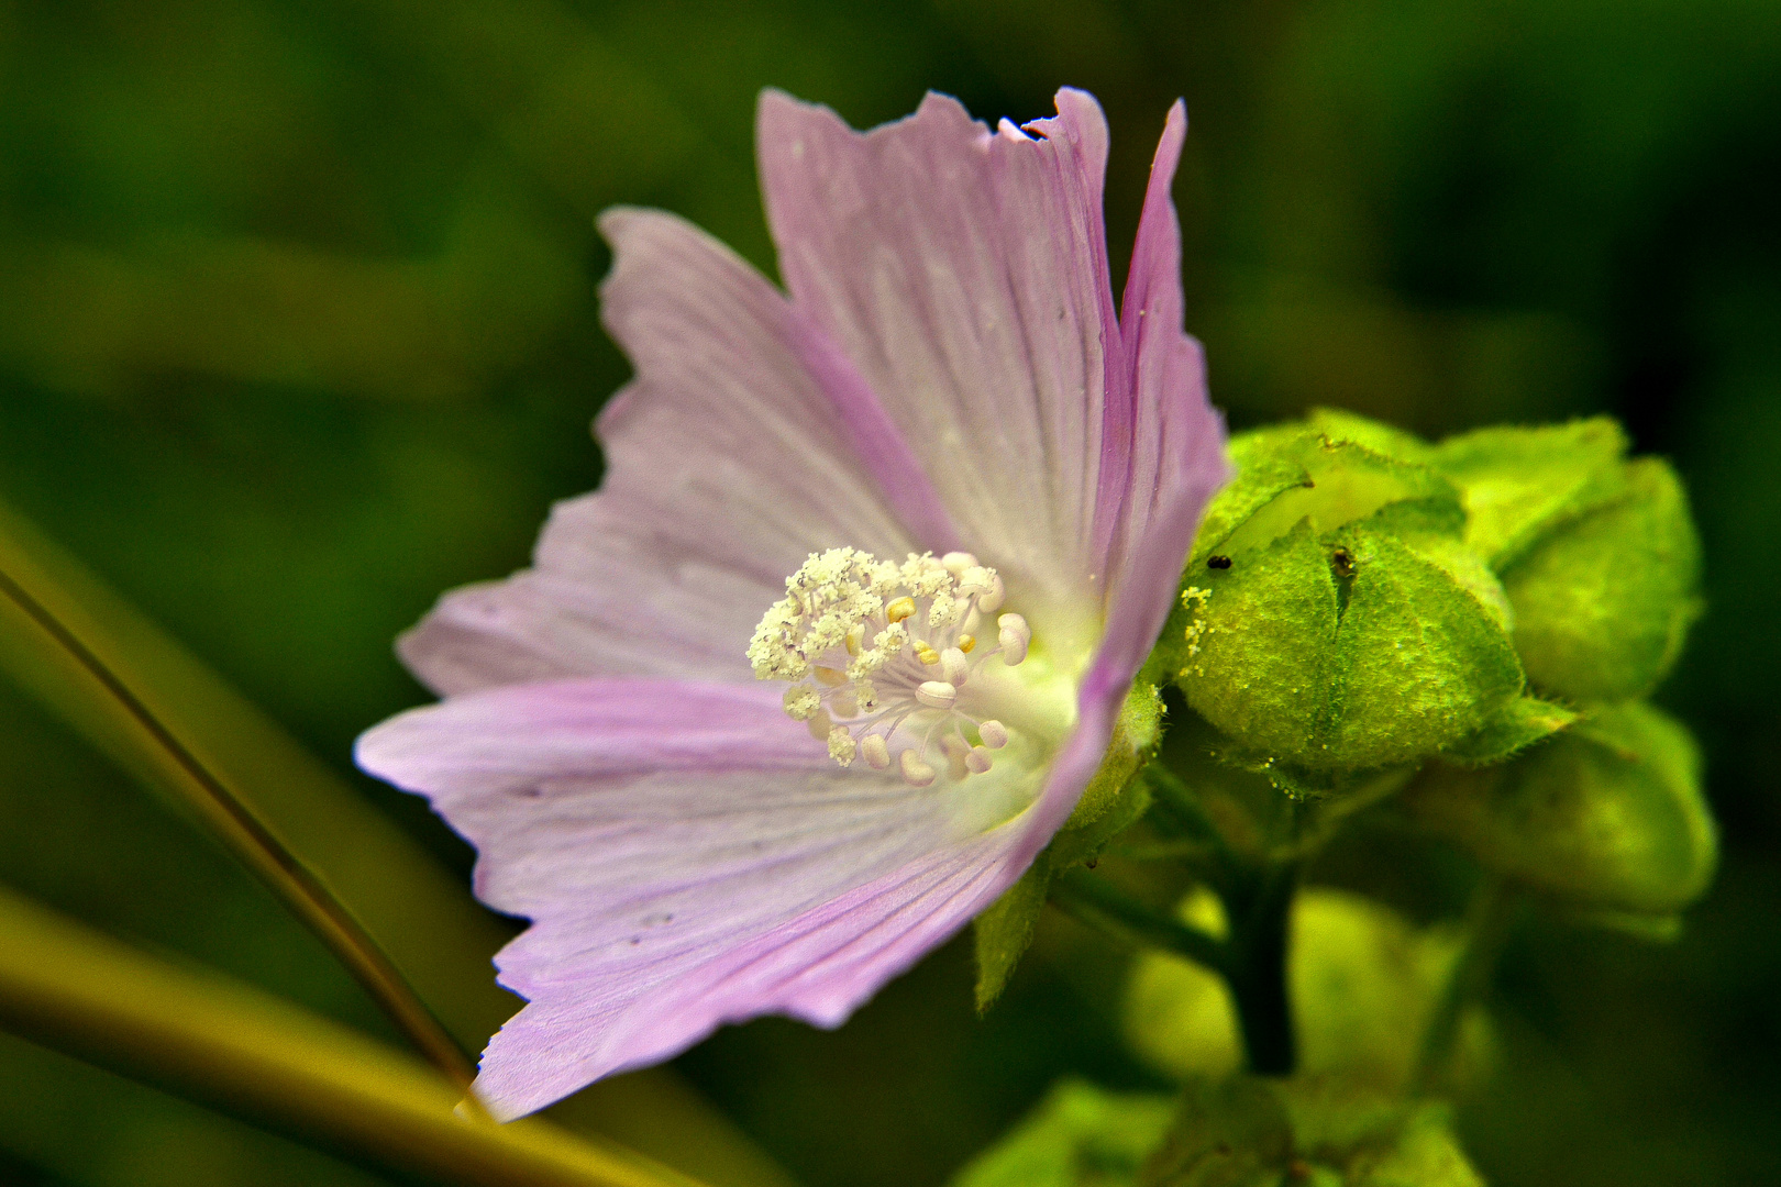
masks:
<path fill-rule="evenodd" d="M 988 771 L 1008 744 L 994 705 L 1006 685 L 981 669 L 990 657 L 999 667 L 1026 660 L 1033 630 L 1019 614 L 996 616 L 1001 605 L 1001 577 L 969 552 L 903 564 L 812 552 L 755 628 L 748 660 L 759 680 L 791 682 L 785 712 L 842 767 L 894 760 L 926 787 L 944 763 L 958 781 Z"/>

